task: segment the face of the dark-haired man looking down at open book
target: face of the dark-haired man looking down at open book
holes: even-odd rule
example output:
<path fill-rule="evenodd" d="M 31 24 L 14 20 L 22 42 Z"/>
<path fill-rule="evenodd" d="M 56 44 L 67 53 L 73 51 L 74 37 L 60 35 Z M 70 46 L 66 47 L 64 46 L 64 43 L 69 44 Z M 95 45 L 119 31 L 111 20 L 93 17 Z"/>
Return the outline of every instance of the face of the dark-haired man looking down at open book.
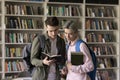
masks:
<path fill-rule="evenodd" d="M 58 35 L 58 29 L 59 29 L 58 26 L 53 27 L 53 26 L 47 25 L 46 29 L 47 29 L 47 32 L 48 32 L 48 36 L 51 39 L 55 39 L 57 37 L 57 35 Z"/>

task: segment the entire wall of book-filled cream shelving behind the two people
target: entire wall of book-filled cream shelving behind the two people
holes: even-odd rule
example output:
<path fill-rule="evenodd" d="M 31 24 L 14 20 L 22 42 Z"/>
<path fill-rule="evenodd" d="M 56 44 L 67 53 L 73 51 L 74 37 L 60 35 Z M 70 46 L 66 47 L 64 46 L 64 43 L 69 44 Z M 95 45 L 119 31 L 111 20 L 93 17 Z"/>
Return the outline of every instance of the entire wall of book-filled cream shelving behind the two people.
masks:
<path fill-rule="evenodd" d="M 44 20 L 55 15 L 60 21 L 62 37 L 65 21 L 78 21 L 80 37 L 97 55 L 96 80 L 119 80 L 120 4 L 117 4 L 119 0 L 113 4 L 112 0 L 108 1 L 110 4 L 105 2 L 0 0 L 0 79 L 17 77 L 24 70 L 21 68 L 23 47 L 44 31 Z"/>

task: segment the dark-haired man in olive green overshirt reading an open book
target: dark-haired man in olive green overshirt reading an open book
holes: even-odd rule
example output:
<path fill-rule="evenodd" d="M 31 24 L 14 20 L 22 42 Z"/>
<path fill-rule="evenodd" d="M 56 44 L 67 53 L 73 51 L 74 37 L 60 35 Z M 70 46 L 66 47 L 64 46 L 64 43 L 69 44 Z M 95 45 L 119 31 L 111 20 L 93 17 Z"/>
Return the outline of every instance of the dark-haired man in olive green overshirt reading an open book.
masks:
<path fill-rule="evenodd" d="M 46 33 L 45 36 L 45 50 L 49 55 L 61 55 L 61 62 L 49 60 L 48 57 L 44 59 L 38 58 L 41 54 L 41 43 L 36 37 L 32 43 L 31 49 L 31 63 L 36 66 L 33 73 L 32 80 L 60 80 L 60 67 L 65 63 L 65 42 L 64 39 L 58 36 L 59 22 L 56 17 L 49 17 L 45 21 Z"/>

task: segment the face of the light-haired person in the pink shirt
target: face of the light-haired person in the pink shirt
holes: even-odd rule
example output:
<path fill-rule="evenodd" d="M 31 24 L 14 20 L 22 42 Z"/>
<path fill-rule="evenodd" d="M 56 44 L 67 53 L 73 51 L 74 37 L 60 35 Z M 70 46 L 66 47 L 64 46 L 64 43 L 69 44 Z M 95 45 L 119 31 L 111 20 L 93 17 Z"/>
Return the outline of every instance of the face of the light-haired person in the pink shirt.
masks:
<path fill-rule="evenodd" d="M 64 33 L 68 41 L 74 41 L 77 36 L 71 29 L 64 29 Z"/>

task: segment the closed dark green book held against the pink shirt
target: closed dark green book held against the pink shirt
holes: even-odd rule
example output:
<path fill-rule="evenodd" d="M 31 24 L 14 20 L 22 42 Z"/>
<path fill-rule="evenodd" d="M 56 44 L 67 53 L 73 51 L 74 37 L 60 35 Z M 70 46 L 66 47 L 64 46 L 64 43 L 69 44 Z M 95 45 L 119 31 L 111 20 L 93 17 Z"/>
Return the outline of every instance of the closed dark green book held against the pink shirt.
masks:
<path fill-rule="evenodd" d="M 83 64 L 83 53 L 82 52 L 71 52 L 71 63 L 72 65 Z"/>

